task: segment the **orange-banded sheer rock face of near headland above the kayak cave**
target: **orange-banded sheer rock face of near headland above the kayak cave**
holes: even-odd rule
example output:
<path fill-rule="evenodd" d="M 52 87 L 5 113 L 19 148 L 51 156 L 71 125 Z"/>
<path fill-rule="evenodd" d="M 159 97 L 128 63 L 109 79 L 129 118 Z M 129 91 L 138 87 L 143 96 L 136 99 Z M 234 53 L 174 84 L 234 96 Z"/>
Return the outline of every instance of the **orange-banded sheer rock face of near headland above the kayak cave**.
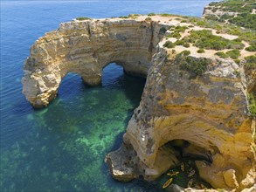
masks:
<path fill-rule="evenodd" d="M 147 171 L 159 166 L 159 147 L 182 139 L 211 152 L 213 163 L 197 161 L 197 168 L 213 187 L 240 190 L 252 186 L 254 180 L 246 181 L 252 173 L 255 178 L 255 124 L 247 116 L 246 85 L 233 74 L 239 66 L 212 58 L 203 77 L 190 79 L 179 65 L 159 47 L 141 104 L 128 123 L 124 142 L 135 148 L 142 161 L 140 174 L 148 180 L 161 175 Z"/>

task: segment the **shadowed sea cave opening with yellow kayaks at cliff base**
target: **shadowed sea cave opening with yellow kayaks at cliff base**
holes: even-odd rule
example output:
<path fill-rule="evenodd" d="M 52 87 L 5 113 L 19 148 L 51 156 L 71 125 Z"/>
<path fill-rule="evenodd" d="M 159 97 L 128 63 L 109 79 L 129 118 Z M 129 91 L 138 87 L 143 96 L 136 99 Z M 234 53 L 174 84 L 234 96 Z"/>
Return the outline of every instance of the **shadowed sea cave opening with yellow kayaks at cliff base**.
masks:
<path fill-rule="evenodd" d="M 197 161 L 204 161 L 205 164 L 212 163 L 211 151 L 204 147 L 199 147 L 193 141 L 176 139 L 168 141 L 159 147 L 159 154 L 166 154 L 168 151 L 170 157 L 170 168 L 163 175 L 163 180 L 168 182 L 172 178 L 173 185 L 170 190 L 193 187 L 194 189 L 211 188 L 211 185 L 205 182 L 199 175 Z M 165 184 L 163 182 L 163 185 Z"/>

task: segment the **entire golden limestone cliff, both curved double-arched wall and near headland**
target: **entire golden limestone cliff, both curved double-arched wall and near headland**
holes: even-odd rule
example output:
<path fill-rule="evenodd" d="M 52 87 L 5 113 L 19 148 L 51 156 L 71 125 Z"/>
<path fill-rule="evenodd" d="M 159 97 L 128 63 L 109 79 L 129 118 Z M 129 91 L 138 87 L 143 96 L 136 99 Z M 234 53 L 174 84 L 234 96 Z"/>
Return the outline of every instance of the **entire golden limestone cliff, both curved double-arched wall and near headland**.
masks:
<path fill-rule="evenodd" d="M 254 76 L 246 77 L 242 63 L 220 58 L 215 50 L 198 53 L 198 42 L 184 44 L 193 31 L 205 32 L 204 27 L 183 17 L 146 17 L 73 20 L 46 33 L 24 65 L 26 98 L 33 106 L 47 106 L 66 73 L 76 72 L 95 86 L 102 68 L 116 62 L 126 72 L 146 76 L 147 82 L 121 148 L 107 154 L 114 178 L 156 179 L 179 163 L 176 151 L 165 144 L 182 140 L 190 143 L 190 154 L 199 151 L 211 160 L 196 163 L 212 187 L 250 188 L 256 177 L 255 122 L 248 116 L 246 91 L 248 85 L 255 87 Z M 183 45 L 174 38 L 178 31 Z M 238 38 L 211 32 L 230 45 Z M 255 54 L 245 50 L 246 42 L 239 45 L 241 60 Z"/>

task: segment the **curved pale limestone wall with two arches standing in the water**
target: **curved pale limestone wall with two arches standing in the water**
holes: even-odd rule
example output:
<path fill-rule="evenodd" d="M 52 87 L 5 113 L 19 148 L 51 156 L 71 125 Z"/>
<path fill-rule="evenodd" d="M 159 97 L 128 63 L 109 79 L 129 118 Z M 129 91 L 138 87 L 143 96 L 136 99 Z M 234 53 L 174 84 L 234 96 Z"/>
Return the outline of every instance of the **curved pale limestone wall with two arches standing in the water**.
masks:
<path fill-rule="evenodd" d="M 130 74 L 147 76 L 166 28 L 135 20 L 60 24 L 58 30 L 46 33 L 32 45 L 24 65 L 23 93 L 32 106 L 47 106 L 68 72 L 78 73 L 89 86 L 97 86 L 102 69 L 111 62 Z"/>

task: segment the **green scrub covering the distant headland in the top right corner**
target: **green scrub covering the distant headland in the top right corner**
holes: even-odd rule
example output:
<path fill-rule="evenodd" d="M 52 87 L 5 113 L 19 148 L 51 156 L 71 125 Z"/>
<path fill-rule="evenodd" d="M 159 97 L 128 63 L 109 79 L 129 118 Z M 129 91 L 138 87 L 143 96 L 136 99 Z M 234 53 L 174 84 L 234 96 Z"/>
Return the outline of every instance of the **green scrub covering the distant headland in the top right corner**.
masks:
<path fill-rule="evenodd" d="M 225 12 L 237 13 L 237 16 L 224 14 L 220 17 L 215 15 L 210 15 L 205 17 L 213 21 L 219 22 L 229 22 L 231 24 L 236 24 L 241 27 L 245 27 L 250 30 L 256 30 L 256 15 L 252 14 L 253 9 L 256 9 L 255 0 L 228 0 L 218 3 L 210 3 L 211 10 L 215 12 L 216 10 L 223 10 Z"/>

